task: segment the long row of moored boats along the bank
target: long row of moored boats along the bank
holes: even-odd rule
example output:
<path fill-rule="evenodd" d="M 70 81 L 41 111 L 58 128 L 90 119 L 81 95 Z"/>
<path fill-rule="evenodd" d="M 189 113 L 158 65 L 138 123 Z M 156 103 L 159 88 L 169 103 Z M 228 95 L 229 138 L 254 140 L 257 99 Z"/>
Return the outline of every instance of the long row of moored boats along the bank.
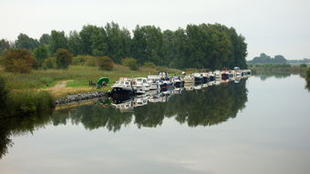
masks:
<path fill-rule="evenodd" d="M 216 79 L 228 80 L 231 78 L 251 75 L 251 70 L 235 67 L 233 70 L 223 69 L 207 73 L 193 73 L 182 76 L 170 77 L 167 72 L 147 77 L 120 77 L 112 86 L 111 97 L 127 97 L 145 94 L 150 90 L 170 90 L 174 87 L 184 87 L 184 84 L 205 84 Z"/>

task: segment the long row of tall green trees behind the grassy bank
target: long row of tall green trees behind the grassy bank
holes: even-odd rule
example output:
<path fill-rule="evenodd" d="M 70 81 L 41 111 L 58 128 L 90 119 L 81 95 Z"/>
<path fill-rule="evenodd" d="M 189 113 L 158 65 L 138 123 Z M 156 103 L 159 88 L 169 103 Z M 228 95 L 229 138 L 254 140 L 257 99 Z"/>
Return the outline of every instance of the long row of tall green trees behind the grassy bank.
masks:
<path fill-rule="evenodd" d="M 176 68 L 247 67 L 245 38 L 233 27 L 220 24 L 188 25 L 175 31 L 136 26 L 130 33 L 112 22 L 106 26 L 83 26 L 67 35 L 52 30 L 38 40 L 26 34 L 20 34 L 14 42 L 0 40 L 0 54 L 12 48 L 28 49 L 35 56 L 54 56 L 59 48 L 64 48 L 74 56 L 109 56 L 115 63 L 131 57 L 140 65 L 154 63 Z"/>

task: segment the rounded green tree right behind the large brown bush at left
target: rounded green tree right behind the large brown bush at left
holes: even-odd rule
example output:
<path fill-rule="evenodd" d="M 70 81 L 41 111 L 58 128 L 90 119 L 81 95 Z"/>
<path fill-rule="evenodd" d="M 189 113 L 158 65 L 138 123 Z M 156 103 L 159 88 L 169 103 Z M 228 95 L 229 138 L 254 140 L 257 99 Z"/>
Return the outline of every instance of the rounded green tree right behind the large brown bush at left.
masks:
<path fill-rule="evenodd" d="M 39 44 L 40 43 L 36 39 L 26 36 L 25 34 L 19 34 L 19 36 L 17 36 L 17 40 L 15 41 L 15 47 L 20 49 L 24 48 L 33 50 L 39 46 Z"/>

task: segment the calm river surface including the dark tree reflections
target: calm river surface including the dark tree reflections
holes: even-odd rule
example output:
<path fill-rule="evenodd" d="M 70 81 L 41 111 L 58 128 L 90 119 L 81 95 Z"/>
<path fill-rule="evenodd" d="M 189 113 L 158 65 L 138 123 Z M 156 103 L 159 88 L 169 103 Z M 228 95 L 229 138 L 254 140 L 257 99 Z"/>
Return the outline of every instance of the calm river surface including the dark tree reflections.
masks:
<path fill-rule="evenodd" d="M 310 173 L 304 78 L 170 95 L 127 112 L 96 102 L 1 120 L 0 173 Z"/>

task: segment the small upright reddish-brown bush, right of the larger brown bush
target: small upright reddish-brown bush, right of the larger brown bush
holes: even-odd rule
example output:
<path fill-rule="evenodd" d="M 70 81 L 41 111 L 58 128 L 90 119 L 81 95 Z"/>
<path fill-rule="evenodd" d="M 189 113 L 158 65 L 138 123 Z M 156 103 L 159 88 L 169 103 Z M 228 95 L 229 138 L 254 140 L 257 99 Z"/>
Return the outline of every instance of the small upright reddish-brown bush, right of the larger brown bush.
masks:
<path fill-rule="evenodd" d="M 67 67 L 71 64 L 73 55 L 67 50 L 63 48 L 57 49 L 56 53 L 56 65 L 57 68 L 67 69 Z"/>

